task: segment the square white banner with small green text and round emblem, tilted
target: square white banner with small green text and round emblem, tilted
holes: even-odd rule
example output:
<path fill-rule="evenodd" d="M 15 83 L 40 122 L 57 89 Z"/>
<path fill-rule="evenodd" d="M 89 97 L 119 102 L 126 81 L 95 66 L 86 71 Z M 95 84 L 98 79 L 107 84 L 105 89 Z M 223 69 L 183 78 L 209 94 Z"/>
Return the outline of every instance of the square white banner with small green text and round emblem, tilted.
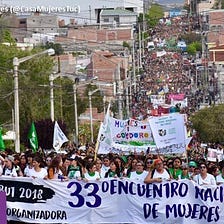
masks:
<path fill-rule="evenodd" d="M 153 138 L 157 148 L 172 145 L 185 146 L 185 126 L 182 114 L 169 114 L 149 118 Z"/>

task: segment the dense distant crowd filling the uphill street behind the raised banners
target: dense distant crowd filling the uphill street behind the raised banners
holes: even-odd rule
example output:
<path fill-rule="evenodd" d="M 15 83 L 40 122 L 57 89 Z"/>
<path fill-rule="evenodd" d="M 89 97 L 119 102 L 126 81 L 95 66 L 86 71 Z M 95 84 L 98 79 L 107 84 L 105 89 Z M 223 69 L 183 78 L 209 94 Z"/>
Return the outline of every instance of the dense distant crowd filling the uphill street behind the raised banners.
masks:
<path fill-rule="evenodd" d="M 133 117 L 144 119 L 157 108 L 151 95 L 164 95 L 165 104 L 170 104 L 169 94 L 184 94 L 188 100 L 184 112 L 189 114 L 199 109 L 204 92 L 197 88 L 192 56 L 187 56 L 177 46 L 181 36 L 197 26 L 188 17 L 163 19 L 149 31 L 155 49 L 145 49 L 142 61 L 143 73 L 138 80 L 135 97 L 132 99 Z M 195 91 L 193 91 L 193 88 Z"/>

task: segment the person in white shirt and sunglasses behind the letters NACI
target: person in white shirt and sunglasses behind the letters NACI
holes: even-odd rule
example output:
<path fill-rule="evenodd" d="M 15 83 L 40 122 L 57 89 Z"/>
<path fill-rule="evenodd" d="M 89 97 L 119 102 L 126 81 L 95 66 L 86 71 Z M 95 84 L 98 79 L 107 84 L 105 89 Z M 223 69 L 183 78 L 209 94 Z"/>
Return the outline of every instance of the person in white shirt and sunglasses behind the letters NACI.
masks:
<path fill-rule="evenodd" d="M 205 163 L 201 163 L 200 166 L 200 173 L 193 177 L 193 181 L 195 181 L 200 186 L 207 186 L 207 187 L 216 187 L 216 180 L 212 174 L 208 173 L 208 168 Z"/>

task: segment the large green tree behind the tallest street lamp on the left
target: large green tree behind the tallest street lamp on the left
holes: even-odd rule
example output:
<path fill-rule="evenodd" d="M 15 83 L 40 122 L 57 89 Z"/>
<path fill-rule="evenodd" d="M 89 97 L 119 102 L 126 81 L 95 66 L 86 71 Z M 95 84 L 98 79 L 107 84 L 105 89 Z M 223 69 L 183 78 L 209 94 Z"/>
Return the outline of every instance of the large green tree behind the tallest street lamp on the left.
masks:
<path fill-rule="evenodd" d="M 12 110 L 14 108 L 14 84 L 13 84 L 13 58 L 22 58 L 35 54 L 39 49 L 33 51 L 22 51 L 15 46 L 0 46 L 0 123 L 12 121 Z M 53 59 L 49 56 L 41 56 L 21 63 L 19 66 L 19 106 L 20 106 L 20 128 L 25 127 L 28 122 L 40 118 L 49 117 L 50 109 L 45 107 L 46 99 L 49 102 L 49 94 L 43 91 L 39 85 L 48 81 L 48 75 L 53 67 Z M 49 103 L 48 103 L 49 104 Z"/>

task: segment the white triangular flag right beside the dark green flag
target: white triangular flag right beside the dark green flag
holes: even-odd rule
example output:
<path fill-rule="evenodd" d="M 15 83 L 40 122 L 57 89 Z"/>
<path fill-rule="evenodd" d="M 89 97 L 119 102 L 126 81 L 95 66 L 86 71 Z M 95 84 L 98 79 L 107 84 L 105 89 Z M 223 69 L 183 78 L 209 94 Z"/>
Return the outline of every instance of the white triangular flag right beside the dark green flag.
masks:
<path fill-rule="evenodd" d="M 65 134 L 63 133 L 63 131 L 61 130 L 61 128 L 58 125 L 58 122 L 55 121 L 54 124 L 54 138 L 53 138 L 53 147 L 56 151 L 58 151 L 61 146 L 63 145 L 63 143 L 68 142 L 67 137 L 65 136 Z"/>

